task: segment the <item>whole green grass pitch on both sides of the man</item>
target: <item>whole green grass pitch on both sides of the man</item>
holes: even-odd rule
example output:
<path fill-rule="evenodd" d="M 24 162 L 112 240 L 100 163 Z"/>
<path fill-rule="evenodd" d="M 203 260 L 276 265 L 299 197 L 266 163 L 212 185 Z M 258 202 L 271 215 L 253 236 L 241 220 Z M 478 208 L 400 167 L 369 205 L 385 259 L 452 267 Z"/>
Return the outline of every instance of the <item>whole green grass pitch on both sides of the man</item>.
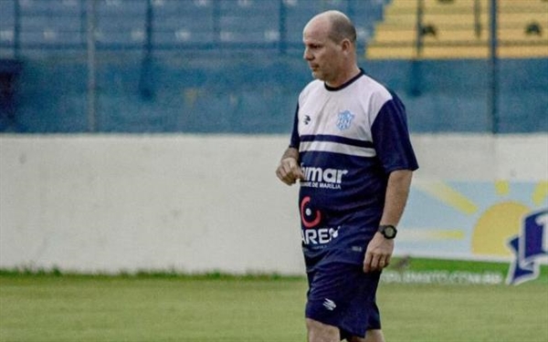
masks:
<path fill-rule="evenodd" d="M 546 269 L 543 267 L 543 275 Z M 0 341 L 304 341 L 304 278 L 0 273 Z M 388 342 L 548 341 L 546 277 L 383 284 Z"/>

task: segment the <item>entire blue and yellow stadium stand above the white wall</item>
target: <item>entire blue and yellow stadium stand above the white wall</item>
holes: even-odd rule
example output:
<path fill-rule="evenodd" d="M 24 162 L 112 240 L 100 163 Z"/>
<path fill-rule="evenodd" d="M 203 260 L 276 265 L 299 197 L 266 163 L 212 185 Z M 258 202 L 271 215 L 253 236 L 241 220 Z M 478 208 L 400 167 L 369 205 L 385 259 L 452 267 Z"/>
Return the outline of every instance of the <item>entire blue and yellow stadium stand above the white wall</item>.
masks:
<path fill-rule="evenodd" d="M 302 27 L 339 9 L 356 25 L 360 65 L 403 98 L 412 131 L 491 131 L 489 1 L 98 0 L 97 127 L 287 133 L 311 79 Z M 539 72 L 548 69 L 548 3 L 499 3 L 497 132 L 548 131 L 548 78 Z M 3 78 L 0 132 L 89 130 L 88 4 L 0 0 L 0 67 L 17 63 L 5 67 L 17 78 Z"/>

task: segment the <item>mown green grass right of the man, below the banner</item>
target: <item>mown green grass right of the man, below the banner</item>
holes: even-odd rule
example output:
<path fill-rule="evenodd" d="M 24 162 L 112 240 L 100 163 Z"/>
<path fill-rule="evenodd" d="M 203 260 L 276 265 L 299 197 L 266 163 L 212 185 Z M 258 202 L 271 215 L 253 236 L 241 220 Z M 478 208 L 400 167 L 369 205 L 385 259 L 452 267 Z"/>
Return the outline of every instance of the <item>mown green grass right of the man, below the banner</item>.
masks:
<path fill-rule="evenodd" d="M 544 285 L 384 285 L 388 341 L 546 342 Z"/>

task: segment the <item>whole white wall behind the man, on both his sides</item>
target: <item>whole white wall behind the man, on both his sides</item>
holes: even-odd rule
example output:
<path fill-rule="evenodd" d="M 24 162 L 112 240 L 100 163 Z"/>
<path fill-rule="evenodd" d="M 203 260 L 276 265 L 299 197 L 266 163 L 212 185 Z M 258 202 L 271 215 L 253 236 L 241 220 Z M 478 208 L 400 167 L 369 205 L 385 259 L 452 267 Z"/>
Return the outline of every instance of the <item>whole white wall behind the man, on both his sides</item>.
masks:
<path fill-rule="evenodd" d="M 302 274 L 286 136 L 2 135 L 0 268 Z M 548 139 L 416 136 L 416 181 L 543 181 Z"/>

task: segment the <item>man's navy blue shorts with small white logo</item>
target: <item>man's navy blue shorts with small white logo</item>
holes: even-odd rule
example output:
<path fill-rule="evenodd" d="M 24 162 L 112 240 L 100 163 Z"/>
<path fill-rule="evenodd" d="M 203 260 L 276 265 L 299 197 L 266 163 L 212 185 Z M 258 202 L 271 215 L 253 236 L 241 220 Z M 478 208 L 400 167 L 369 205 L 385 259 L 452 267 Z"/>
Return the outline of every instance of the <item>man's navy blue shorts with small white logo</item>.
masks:
<path fill-rule="evenodd" d="M 341 339 L 365 337 L 365 331 L 380 329 L 375 303 L 380 272 L 364 273 L 362 265 L 330 264 L 308 274 L 306 317 L 337 326 Z"/>

